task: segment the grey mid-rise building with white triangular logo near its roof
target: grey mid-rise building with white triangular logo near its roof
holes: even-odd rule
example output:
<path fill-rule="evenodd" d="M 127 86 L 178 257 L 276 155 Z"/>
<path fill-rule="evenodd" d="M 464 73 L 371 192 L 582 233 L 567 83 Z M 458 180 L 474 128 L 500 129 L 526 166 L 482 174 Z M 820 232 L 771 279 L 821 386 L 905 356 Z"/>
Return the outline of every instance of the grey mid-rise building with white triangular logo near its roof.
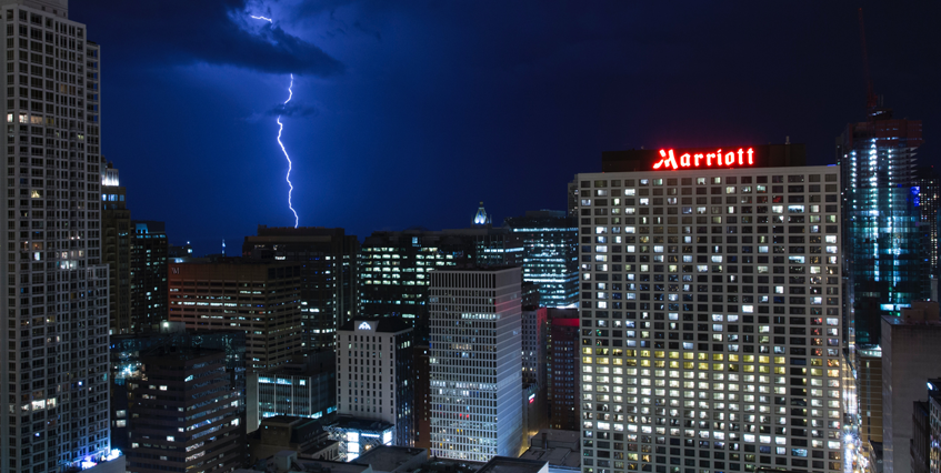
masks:
<path fill-rule="evenodd" d="M 341 455 L 350 461 L 378 445 L 411 446 L 412 328 L 402 319 L 357 318 L 344 323 L 338 335 L 338 420 L 333 429 Z"/>

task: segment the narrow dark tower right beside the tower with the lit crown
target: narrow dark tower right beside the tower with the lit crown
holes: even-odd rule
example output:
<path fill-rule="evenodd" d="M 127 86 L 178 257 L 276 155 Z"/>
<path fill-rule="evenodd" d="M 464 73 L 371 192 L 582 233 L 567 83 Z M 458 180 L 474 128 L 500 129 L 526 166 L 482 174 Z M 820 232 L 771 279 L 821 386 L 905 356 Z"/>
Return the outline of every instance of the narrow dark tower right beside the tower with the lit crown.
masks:
<path fill-rule="evenodd" d="M 169 304 L 167 241 L 163 222 L 131 221 L 131 330 L 157 331 Z"/>

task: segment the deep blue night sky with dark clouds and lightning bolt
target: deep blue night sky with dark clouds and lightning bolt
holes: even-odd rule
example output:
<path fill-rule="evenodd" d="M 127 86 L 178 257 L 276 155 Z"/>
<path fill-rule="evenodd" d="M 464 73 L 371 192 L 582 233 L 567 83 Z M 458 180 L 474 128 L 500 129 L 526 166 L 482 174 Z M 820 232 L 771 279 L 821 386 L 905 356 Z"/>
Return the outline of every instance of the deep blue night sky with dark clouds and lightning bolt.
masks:
<path fill-rule="evenodd" d="M 563 210 L 607 150 L 789 135 L 832 163 L 864 117 L 860 6 L 877 93 L 941 150 L 938 1 L 70 3 L 131 217 L 197 254 L 293 224 L 279 113 L 300 224 L 360 239 Z"/>

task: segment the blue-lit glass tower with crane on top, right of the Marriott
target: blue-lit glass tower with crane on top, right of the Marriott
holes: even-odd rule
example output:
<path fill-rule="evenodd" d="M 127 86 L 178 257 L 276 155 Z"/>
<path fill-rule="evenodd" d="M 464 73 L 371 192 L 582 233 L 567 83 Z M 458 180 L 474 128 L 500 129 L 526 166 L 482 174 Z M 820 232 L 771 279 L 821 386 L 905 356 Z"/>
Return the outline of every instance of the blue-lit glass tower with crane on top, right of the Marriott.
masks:
<path fill-rule="evenodd" d="M 879 344 L 882 315 L 898 316 L 931 289 L 931 225 L 922 221 L 915 172 L 921 121 L 893 119 L 883 108 L 868 118 L 837 139 L 850 341 L 863 346 Z"/>

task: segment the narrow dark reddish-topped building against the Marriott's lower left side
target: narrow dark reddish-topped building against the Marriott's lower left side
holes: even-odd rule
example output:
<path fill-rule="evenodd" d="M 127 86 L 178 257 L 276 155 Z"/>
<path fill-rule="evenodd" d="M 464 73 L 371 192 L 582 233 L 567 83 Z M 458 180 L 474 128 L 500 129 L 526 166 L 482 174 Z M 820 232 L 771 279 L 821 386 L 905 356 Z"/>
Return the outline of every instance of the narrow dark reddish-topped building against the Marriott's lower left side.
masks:
<path fill-rule="evenodd" d="M 554 315 L 554 316 L 553 316 Z M 578 431 L 579 395 L 578 312 L 553 310 L 549 316 L 549 424 L 552 429 Z"/>

